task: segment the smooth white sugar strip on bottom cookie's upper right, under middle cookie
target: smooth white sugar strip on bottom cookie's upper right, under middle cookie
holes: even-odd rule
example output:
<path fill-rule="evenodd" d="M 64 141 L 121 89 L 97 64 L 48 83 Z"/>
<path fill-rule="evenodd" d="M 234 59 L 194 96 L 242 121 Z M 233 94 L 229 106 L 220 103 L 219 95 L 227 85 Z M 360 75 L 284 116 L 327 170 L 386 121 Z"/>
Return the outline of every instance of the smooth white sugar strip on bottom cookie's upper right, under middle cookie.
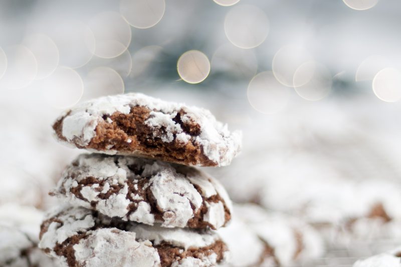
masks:
<path fill-rule="evenodd" d="M 155 245 L 167 242 L 185 249 L 188 247 L 205 247 L 218 239 L 218 235 L 212 232 L 198 233 L 187 228 L 173 229 L 159 225 L 136 224 L 130 230 L 135 232 L 136 237 L 140 240 L 150 240 Z"/>

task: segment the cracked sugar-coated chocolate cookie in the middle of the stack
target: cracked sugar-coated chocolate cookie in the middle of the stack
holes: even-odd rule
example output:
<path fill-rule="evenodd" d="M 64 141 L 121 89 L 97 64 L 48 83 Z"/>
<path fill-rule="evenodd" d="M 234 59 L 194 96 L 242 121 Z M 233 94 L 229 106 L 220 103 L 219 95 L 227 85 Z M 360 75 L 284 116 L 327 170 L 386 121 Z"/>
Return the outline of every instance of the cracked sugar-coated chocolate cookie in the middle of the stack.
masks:
<path fill-rule="evenodd" d="M 227 192 L 205 172 L 130 156 L 82 154 L 53 194 L 110 217 L 163 227 L 217 229 L 231 218 Z"/>

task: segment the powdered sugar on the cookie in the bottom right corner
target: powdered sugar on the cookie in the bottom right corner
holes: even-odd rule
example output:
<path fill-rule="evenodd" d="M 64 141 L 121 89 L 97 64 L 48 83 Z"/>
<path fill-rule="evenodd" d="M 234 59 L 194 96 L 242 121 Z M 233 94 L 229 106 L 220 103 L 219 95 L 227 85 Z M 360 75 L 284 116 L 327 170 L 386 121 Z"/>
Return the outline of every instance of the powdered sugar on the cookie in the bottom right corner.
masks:
<path fill-rule="evenodd" d="M 399 267 L 401 266 L 401 247 L 393 251 L 381 253 L 357 260 L 352 267 Z"/>

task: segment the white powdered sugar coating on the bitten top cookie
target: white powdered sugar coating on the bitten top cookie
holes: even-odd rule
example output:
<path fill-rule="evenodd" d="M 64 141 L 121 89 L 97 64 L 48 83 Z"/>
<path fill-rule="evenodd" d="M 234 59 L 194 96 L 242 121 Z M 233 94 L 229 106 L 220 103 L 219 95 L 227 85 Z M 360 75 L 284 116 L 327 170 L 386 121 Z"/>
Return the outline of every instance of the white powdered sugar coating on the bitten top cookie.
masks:
<path fill-rule="evenodd" d="M 231 160 L 241 149 L 241 132 L 230 133 L 227 125 L 216 120 L 210 111 L 188 107 L 184 104 L 165 102 L 140 93 L 101 97 L 88 101 L 62 114 L 59 120 L 63 120 L 62 137 L 69 143 L 82 148 L 87 146 L 96 136 L 96 126 L 101 122 L 110 123 L 103 116 L 110 116 L 115 112 L 129 114 L 131 107 L 141 106 L 150 110 L 149 117 L 144 124 L 154 129 L 154 137 L 161 138 L 165 143 L 173 140 L 181 144 L 193 143 L 202 147 L 202 153 L 213 162 L 213 165 L 229 165 Z M 173 120 L 178 112 L 183 111 L 181 121 L 196 122 L 199 126 L 198 134 L 190 134 L 182 129 L 181 125 Z M 161 133 L 161 134 L 160 134 Z M 126 140 L 128 143 L 131 140 Z M 127 151 L 113 149 L 113 145 L 100 152 L 107 154 L 129 154 Z M 143 151 L 134 150 L 131 154 L 152 156 Z M 196 162 L 195 165 L 203 165 L 203 162 Z"/>

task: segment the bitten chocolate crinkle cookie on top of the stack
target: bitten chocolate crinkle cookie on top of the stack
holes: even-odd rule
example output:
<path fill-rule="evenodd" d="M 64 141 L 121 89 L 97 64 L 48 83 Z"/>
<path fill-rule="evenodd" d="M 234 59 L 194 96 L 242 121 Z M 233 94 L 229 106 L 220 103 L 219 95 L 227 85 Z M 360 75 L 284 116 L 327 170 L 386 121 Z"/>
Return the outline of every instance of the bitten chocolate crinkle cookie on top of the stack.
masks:
<path fill-rule="evenodd" d="M 241 148 L 241 132 L 230 133 L 210 111 L 139 93 L 80 104 L 53 129 L 78 148 L 185 165 L 229 165 Z"/>

